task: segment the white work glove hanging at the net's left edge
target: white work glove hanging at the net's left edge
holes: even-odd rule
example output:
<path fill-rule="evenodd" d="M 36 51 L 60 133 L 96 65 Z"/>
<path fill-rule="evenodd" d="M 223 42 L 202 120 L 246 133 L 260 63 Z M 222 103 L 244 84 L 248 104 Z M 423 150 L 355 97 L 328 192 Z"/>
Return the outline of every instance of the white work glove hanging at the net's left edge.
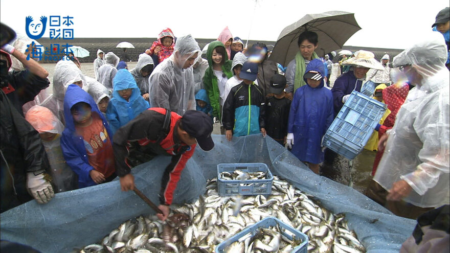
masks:
<path fill-rule="evenodd" d="M 44 178 L 45 173 L 27 173 L 27 190 L 39 204 L 49 202 L 54 196 L 52 185 Z"/>

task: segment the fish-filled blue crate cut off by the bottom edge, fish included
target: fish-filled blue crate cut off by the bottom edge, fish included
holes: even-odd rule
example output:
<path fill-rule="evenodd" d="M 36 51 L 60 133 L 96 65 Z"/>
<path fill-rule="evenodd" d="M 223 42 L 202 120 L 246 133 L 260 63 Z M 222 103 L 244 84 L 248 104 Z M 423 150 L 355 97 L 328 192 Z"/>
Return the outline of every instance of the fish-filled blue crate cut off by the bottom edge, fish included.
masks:
<path fill-rule="evenodd" d="M 276 217 L 270 216 L 223 241 L 216 253 L 223 252 L 292 252 L 307 253 L 308 237 Z"/>

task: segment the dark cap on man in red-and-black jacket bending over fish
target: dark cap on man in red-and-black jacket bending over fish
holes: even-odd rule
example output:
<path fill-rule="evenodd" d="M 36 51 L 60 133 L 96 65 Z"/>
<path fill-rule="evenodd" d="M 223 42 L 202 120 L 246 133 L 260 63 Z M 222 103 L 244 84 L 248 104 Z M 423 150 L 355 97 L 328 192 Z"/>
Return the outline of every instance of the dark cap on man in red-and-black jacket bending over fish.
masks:
<path fill-rule="evenodd" d="M 187 110 L 181 119 L 183 130 L 197 140 L 198 146 L 205 151 L 214 148 L 211 138 L 213 121 L 205 112 Z"/>

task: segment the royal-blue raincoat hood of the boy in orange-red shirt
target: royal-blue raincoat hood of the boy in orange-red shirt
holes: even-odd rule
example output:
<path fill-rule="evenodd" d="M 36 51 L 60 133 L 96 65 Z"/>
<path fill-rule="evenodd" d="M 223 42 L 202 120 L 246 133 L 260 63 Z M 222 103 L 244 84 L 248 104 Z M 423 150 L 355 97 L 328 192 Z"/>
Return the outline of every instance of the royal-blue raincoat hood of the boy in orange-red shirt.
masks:
<path fill-rule="evenodd" d="M 74 118 L 72 117 L 71 108 L 79 102 L 84 102 L 91 106 L 92 113 L 97 113 L 103 122 L 106 121 L 91 95 L 89 95 L 79 86 L 71 84 L 67 87 L 67 91 L 64 96 L 64 119 L 66 128 L 70 129 L 71 131 L 75 131 L 75 123 Z"/>

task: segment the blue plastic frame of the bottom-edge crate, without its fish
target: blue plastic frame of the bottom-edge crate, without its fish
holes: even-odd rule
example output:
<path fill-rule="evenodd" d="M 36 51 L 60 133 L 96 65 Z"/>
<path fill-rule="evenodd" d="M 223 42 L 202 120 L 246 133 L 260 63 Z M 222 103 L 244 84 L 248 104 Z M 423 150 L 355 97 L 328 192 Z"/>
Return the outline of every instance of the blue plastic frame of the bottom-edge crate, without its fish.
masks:
<path fill-rule="evenodd" d="M 224 249 L 226 247 L 228 247 L 229 245 L 231 245 L 233 242 L 238 241 L 240 238 L 242 238 L 243 236 L 251 233 L 251 236 L 255 236 L 258 233 L 258 229 L 260 227 L 264 227 L 264 228 L 268 228 L 269 226 L 276 226 L 279 225 L 280 228 L 284 228 L 285 230 L 289 231 L 290 233 L 286 233 L 285 231 L 282 230 L 281 234 L 283 236 L 285 236 L 286 238 L 288 238 L 289 240 L 294 240 L 294 237 L 296 240 L 301 240 L 301 244 L 296 246 L 295 248 L 293 248 L 290 252 L 291 253 L 307 253 L 307 249 L 308 249 L 308 236 L 306 236 L 305 234 L 303 234 L 302 232 L 298 231 L 297 229 L 295 229 L 294 227 L 291 227 L 289 225 L 287 225 L 286 223 L 282 222 L 281 220 L 275 218 L 275 217 L 266 217 L 262 220 L 260 220 L 259 222 L 251 225 L 251 226 L 247 226 L 244 229 L 242 229 L 241 232 L 237 233 L 236 235 L 228 238 L 227 240 L 221 242 L 219 245 L 217 245 L 216 247 L 216 253 L 222 253 L 224 252 Z M 292 234 L 294 236 L 292 236 Z"/>

